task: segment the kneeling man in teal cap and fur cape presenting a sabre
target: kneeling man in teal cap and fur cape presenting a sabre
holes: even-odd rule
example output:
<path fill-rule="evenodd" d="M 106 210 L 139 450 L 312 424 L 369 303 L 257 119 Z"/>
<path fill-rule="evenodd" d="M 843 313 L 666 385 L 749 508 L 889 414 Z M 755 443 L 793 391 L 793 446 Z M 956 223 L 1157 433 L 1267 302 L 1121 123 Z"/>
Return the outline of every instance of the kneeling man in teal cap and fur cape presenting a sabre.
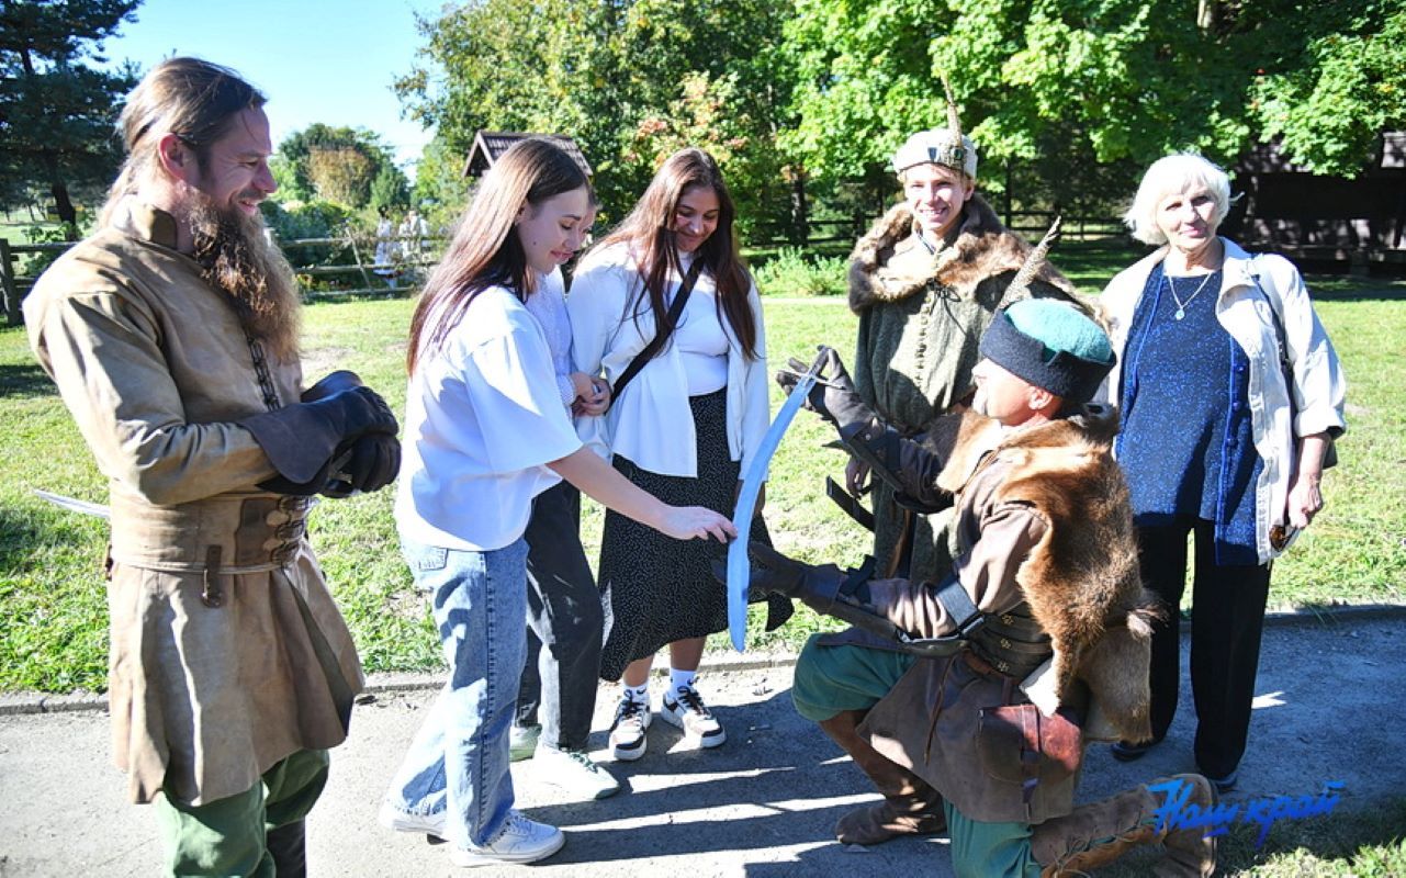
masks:
<path fill-rule="evenodd" d="M 980 353 L 974 410 L 914 438 L 863 403 L 834 351 L 807 399 L 900 497 L 953 504 L 942 577 L 845 576 L 752 546 L 754 589 L 856 625 L 811 638 L 792 690 L 884 797 L 837 836 L 946 829 L 959 875 L 1060 874 L 1161 841 L 1166 874 L 1208 875 L 1212 841 L 1157 825 L 1156 781 L 1073 806 L 1084 742 L 1149 735 L 1152 601 L 1111 454 L 1118 417 L 1087 405 L 1114 365 L 1108 337 L 1070 305 L 1021 301 Z M 1212 802 L 1199 775 L 1167 784 Z"/>

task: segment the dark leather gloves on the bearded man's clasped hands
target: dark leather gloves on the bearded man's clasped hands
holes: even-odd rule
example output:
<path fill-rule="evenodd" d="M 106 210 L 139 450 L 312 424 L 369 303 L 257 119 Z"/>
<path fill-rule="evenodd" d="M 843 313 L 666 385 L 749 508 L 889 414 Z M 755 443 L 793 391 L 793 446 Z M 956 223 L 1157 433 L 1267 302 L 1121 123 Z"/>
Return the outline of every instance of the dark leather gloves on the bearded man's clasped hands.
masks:
<path fill-rule="evenodd" d="M 394 437 L 399 424 L 385 400 L 353 372 L 333 372 L 304 402 L 239 421 L 254 434 L 278 476 L 260 483 L 281 493 L 318 493 L 339 452 L 367 434 Z"/>

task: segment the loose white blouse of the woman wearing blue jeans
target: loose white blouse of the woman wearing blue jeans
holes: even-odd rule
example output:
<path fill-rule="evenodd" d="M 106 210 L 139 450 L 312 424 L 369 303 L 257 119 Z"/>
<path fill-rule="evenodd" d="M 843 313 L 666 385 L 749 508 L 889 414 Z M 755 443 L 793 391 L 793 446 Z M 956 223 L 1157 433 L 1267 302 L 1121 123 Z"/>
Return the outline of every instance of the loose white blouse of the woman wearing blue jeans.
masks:
<path fill-rule="evenodd" d="M 472 552 L 522 537 L 561 480 L 546 464 L 581 448 L 558 396 L 537 320 L 508 289 L 481 292 L 405 395 L 401 535 Z"/>

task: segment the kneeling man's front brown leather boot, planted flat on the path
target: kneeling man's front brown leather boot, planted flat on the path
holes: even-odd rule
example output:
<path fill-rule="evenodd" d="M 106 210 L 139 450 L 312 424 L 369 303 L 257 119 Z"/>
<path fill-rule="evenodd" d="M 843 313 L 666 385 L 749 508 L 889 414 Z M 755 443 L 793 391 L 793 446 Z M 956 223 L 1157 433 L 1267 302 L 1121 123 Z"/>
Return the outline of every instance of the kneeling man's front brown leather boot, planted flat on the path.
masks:
<path fill-rule="evenodd" d="M 886 759 L 858 732 L 865 711 L 844 711 L 820 723 L 855 764 L 869 775 L 883 801 L 851 811 L 835 823 L 835 837 L 844 844 L 879 844 L 897 836 L 925 836 L 946 832 L 942 794 L 912 771 Z"/>

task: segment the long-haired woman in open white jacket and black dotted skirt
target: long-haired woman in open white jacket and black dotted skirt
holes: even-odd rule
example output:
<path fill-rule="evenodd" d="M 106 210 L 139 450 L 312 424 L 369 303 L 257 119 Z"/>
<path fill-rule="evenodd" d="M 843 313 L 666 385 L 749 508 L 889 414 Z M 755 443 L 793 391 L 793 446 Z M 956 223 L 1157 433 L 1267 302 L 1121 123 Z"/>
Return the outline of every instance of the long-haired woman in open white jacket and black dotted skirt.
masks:
<path fill-rule="evenodd" d="M 610 410 L 583 428 L 593 427 L 634 485 L 718 511 L 733 509 L 741 468 L 769 423 L 762 308 L 737 253 L 734 214 L 713 157 L 675 153 L 582 258 L 567 299 L 576 368 L 603 372 L 613 388 Z M 621 375 L 661 333 L 666 341 L 621 389 Z M 752 538 L 765 539 L 759 517 Z M 686 545 L 606 514 L 598 582 L 610 624 L 600 676 L 624 681 L 610 735 L 616 759 L 645 752 L 648 674 L 665 643 L 671 680 L 659 715 L 699 746 L 725 740 L 695 687 L 706 636 L 727 627 L 727 594 L 709 566 L 721 555 L 721 546 Z M 769 624 L 789 610 L 775 601 Z"/>

